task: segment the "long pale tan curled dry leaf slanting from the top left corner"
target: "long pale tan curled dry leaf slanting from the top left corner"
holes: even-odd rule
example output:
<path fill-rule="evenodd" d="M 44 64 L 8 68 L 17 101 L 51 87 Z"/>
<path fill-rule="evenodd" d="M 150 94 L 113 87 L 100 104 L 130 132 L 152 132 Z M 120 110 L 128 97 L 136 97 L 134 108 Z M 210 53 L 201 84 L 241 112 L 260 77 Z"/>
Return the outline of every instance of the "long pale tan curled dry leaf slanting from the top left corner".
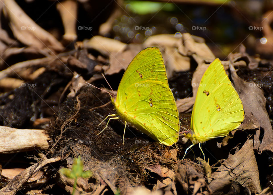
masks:
<path fill-rule="evenodd" d="M 28 17 L 15 1 L 5 0 L 3 9 L 14 36 L 20 42 L 38 49 L 63 50 L 62 44 Z"/>

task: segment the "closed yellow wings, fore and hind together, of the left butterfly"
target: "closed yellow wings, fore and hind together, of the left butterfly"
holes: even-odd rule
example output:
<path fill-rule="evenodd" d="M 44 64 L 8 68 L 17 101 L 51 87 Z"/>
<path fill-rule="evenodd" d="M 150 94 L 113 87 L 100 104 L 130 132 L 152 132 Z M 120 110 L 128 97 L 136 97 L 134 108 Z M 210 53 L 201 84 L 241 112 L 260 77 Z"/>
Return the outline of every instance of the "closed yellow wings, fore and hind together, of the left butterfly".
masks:
<path fill-rule="evenodd" d="M 160 50 L 139 52 L 127 67 L 115 101 L 121 118 L 165 145 L 178 141 L 179 114 Z"/>

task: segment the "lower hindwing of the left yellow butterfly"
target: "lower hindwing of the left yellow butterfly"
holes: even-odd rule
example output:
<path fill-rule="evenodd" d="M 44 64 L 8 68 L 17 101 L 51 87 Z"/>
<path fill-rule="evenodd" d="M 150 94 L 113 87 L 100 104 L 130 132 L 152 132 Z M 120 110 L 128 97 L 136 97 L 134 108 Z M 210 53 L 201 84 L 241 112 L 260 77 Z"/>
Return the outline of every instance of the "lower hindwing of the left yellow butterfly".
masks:
<path fill-rule="evenodd" d="M 165 145 L 178 141 L 178 111 L 165 83 L 149 80 L 134 83 L 127 88 L 122 101 L 117 109 L 121 118 Z"/>

